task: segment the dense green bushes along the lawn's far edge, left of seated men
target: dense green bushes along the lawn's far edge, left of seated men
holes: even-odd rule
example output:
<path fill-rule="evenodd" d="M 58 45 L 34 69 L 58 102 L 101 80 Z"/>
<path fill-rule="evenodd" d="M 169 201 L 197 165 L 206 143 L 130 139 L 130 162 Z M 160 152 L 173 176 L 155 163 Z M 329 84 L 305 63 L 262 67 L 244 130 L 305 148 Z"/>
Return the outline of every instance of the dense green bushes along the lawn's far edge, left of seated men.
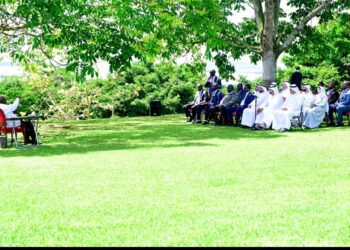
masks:
<path fill-rule="evenodd" d="M 202 66 L 135 63 L 106 80 L 82 83 L 64 69 L 37 66 L 36 73 L 23 78 L 5 78 L 0 94 L 9 102 L 22 96 L 19 111 L 58 120 L 147 115 L 151 100 L 161 100 L 162 112 L 172 114 L 193 99 L 198 83 L 205 82 Z"/>

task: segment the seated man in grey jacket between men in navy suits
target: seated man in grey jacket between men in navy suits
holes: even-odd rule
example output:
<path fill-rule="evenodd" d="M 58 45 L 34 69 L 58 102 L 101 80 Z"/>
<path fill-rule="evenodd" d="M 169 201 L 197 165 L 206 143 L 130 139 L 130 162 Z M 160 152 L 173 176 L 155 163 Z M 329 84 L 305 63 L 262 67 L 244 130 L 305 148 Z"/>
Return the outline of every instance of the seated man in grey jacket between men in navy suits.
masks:
<path fill-rule="evenodd" d="M 232 84 L 227 86 L 227 94 L 221 99 L 220 103 L 216 106 L 210 108 L 210 114 L 214 118 L 216 125 L 220 124 L 221 118 L 226 121 L 226 107 L 233 106 L 239 100 L 239 95 L 234 91 Z M 221 112 L 221 117 L 219 118 L 217 112 Z"/>

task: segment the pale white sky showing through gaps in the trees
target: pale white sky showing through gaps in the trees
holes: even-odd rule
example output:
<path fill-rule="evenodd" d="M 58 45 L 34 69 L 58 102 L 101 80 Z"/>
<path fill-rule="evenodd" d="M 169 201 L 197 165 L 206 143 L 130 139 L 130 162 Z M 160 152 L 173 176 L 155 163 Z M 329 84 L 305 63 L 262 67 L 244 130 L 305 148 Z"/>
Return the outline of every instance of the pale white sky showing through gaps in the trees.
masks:
<path fill-rule="evenodd" d="M 292 9 L 286 5 L 286 0 L 281 1 L 281 7 L 289 13 Z M 240 13 L 234 14 L 230 19 L 232 22 L 239 22 L 241 21 L 244 17 L 252 17 L 254 15 L 254 12 L 251 8 L 247 8 L 245 11 L 242 11 Z M 187 60 L 186 57 L 179 58 L 178 63 L 185 63 Z M 215 63 L 211 61 L 206 61 L 207 66 L 206 66 L 206 72 L 207 75 L 209 75 L 209 71 L 211 69 L 216 69 L 218 72 L 217 67 L 215 66 Z M 262 75 L 262 64 L 261 62 L 255 64 L 252 64 L 250 62 L 249 57 L 243 56 L 240 60 L 234 61 L 233 65 L 235 66 L 236 73 L 234 76 L 238 78 L 239 75 L 243 75 L 249 80 L 254 80 Z M 106 62 L 99 61 L 96 65 L 98 72 L 99 72 L 99 77 L 101 78 L 106 78 L 109 72 L 109 65 Z M 278 67 L 284 68 L 284 64 L 281 62 L 281 57 L 278 60 Z M 11 61 L 11 59 L 4 55 L 0 54 L 0 78 L 4 76 L 14 76 L 14 75 L 23 75 L 25 71 L 23 70 L 22 67 L 16 65 Z M 225 82 L 224 83 L 232 83 L 233 81 Z"/>

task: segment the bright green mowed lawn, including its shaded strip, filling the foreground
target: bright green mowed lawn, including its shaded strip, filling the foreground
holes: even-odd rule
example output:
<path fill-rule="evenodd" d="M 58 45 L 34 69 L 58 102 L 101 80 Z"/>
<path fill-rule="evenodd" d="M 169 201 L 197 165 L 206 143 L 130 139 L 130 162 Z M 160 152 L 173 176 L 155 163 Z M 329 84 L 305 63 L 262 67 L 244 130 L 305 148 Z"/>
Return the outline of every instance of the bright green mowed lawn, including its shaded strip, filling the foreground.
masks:
<path fill-rule="evenodd" d="M 1 246 L 350 245 L 350 127 L 42 123 L 0 150 Z"/>

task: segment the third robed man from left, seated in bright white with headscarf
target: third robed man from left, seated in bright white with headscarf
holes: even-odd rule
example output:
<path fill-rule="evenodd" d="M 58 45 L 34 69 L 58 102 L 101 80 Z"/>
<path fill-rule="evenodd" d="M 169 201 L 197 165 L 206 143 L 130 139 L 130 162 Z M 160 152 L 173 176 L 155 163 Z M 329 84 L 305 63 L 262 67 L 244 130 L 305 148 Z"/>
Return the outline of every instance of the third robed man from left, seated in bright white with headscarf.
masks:
<path fill-rule="evenodd" d="M 291 127 L 291 120 L 294 116 L 300 115 L 303 105 L 303 98 L 300 95 L 298 86 L 295 84 L 290 86 L 290 95 L 281 106 L 280 110 L 276 110 L 273 114 L 272 128 L 277 131 L 286 131 Z"/>

